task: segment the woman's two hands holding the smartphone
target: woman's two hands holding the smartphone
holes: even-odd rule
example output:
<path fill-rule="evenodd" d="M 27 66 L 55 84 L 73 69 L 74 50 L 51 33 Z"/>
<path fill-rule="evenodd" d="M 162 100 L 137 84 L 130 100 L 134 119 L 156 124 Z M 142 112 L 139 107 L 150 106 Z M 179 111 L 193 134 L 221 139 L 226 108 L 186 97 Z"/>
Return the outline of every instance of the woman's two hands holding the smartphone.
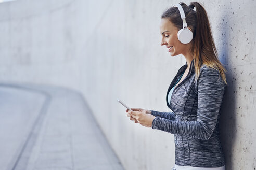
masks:
<path fill-rule="evenodd" d="M 152 127 L 152 122 L 153 119 L 155 119 L 155 116 L 151 115 L 151 111 L 140 108 L 131 109 L 132 110 L 126 110 L 126 112 L 128 112 L 127 116 L 130 117 L 130 120 L 134 120 L 135 123 L 140 123 L 145 127 Z"/>

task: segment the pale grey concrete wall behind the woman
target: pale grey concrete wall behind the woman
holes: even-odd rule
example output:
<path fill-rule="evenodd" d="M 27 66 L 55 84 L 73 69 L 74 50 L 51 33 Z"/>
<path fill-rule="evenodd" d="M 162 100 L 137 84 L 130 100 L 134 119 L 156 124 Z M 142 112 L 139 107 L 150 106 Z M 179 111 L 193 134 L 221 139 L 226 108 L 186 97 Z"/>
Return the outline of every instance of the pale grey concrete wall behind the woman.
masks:
<path fill-rule="evenodd" d="M 184 1 L 189 3 L 189 1 Z M 229 86 L 221 115 L 227 169 L 255 169 L 254 0 L 200 1 Z M 82 91 L 126 169 L 171 169 L 172 134 L 132 123 L 130 107 L 169 111 L 183 56 L 160 46 L 160 15 L 177 1 L 12 1 L 0 4 L 0 81 Z"/>

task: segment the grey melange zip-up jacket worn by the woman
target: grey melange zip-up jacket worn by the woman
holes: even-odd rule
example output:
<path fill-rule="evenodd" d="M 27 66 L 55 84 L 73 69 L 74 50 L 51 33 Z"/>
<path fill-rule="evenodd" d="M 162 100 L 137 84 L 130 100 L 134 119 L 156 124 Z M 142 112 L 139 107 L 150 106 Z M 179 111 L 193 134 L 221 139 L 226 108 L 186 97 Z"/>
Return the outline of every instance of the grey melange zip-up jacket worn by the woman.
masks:
<path fill-rule="evenodd" d="M 167 106 L 173 112 L 151 110 L 151 114 L 156 116 L 152 129 L 174 134 L 176 165 L 224 166 L 219 139 L 219 112 L 226 84 L 219 77 L 218 70 L 204 64 L 200 67 L 199 79 L 194 83 L 192 60 L 188 75 L 174 89 L 171 102 L 168 102 L 169 91 L 186 68 L 187 63 L 178 70 L 167 92 Z"/>

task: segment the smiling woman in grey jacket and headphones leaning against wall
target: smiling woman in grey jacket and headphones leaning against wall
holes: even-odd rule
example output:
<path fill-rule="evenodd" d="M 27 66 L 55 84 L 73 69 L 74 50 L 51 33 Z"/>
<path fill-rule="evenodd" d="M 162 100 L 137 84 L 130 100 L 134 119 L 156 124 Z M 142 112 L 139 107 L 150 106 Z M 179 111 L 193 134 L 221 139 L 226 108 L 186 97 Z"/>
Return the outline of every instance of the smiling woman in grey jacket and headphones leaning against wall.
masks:
<path fill-rule="evenodd" d="M 165 11 L 160 24 L 161 45 L 171 56 L 183 54 L 186 59 L 167 92 L 167 106 L 172 111 L 132 108 L 126 110 L 127 116 L 135 123 L 174 134 L 173 169 L 224 170 L 219 112 L 227 86 L 226 70 L 217 58 L 204 8 L 198 2 L 180 5 Z M 191 31 L 191 37 L 189 33 L 183 37 L 185 41 L 178 35 L 183 28 Z"/>

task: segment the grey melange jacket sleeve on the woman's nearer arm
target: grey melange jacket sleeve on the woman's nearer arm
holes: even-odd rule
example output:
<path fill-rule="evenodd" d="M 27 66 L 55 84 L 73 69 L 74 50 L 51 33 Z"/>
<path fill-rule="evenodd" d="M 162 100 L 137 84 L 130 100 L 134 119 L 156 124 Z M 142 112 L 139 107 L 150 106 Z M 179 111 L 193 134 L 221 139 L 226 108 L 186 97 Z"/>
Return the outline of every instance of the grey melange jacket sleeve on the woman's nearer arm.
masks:
<path fill-rule="evenodd" d="M 196 121 L 177 121 L 156 117 L 152 129 L 187 138 L 209 140 L 217 123 L 225 83 L 219 71 L 203 67 L 198 79 L 198 109 Z"/>

